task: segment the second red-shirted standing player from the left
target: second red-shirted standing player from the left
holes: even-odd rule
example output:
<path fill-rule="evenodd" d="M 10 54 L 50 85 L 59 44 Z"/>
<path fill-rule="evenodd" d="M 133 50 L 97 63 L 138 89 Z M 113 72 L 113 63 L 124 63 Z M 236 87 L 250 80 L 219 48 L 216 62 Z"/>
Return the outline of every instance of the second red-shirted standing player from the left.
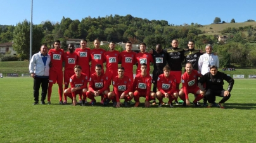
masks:
<path fill-rule="evenodd" d="M 75 47 L 74 44 L 68 44 L 69 52 L 65 52 L 63 54 L 63 61 L 65 62 L 65 70 L 64 70 L 64 91 L 68 88 L 69 79 L 71 76 L 75 74 L 74 66 L 77 65 L 77 53 L 74 52 Z M 67 104 L 67 96 L 64 94 L 64 102 L 63 104 Z"/>

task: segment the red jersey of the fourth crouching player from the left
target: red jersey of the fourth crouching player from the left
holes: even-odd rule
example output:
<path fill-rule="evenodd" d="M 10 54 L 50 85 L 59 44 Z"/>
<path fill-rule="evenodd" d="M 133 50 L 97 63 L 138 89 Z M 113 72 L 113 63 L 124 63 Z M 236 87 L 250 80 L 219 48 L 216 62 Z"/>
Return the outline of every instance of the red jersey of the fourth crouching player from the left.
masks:
<path fill-rule="evenodd" d="M 150 100 L 150 89 L 151 89 L 152 77 L 147 74 L 143 77 L 141 74 L 137 74 L 133 81 L 133 91 L 140 91 L 146 93 L 146 101 Z"/>

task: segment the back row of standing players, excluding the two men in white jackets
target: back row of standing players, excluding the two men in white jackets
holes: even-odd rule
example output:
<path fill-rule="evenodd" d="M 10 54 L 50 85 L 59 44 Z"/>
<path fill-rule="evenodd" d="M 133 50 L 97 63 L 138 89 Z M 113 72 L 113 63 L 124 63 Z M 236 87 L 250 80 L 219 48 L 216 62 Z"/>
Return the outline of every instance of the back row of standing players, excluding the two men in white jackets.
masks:
<path fill-rule="evenodd" d="M 125 50 L 118 52 L 115 50 L 115 42 L 110 42 L 110 50 L 106 51 L 99 47 L 99 40 L 94 40 L 94 49 L 87 48 L 87 41 L 80 41 L 80 48 L 75 49 L 74 45 L 68 45 L 69 52 L 64 52 L 60 49 L 60 41 L 56 40 L 54 42 L 54 49 L 49 50 L 49 55 L 51 55 L 52 67 L 49 70 L 49 88 L 48 88 L 48 104 L 51 104 L 51 92 L 54 83 L 58 83 L 59 89 L 58 93 L 60 96 L 60 104 L 63 104 L 62 94 L 63 94 L 63 72 L 62 72 L 62 61 L 65 61 L 65 72 L 64 72 L 64 84 L 65 89 L 68 88 L 70 83 L 70 77 L 75 74 L 74 66 L 79 65 L 87 76 L 95 76 L 95 66 L 97 64 L 103 67 L 103 63 L 106 62 L 105 76 L 107 80 L 107 87 L 109 91 L 109 85 L 113 77 L 118 76 L 118 62 L 122 63 L 125 72 L 124 75 L 128 76 L 129 79 L 133 78 L 133 66 L 138 63 L 138 68 L 136 69 L 136 74 L 141 73 L 141 64 L 145 63 L 147 66 L 146 72 L 150 74 L 150 62 L 153 63 L 153 78 L 152 83 L 153 92 L 157 93 L 157 79 L 160 74 L 163 74 L 163 67 L 167 64 L 170 66 L 170 74 L 176 79 L 176 91 L 179 93 L 179 84 L 181 83 L 182 74 L 182 62 L 191 62 L 193 69 L 198 70 L 198 59 L 202 52 L 200 50 L 194 49 L 195 42 L 189 40 L 188 47 L 189 50 L 183 50 L 178 48 L 178 40 L 172 40 L 172 47 L 167 49 L 162 49 L 161 45 L 157 45 L 155 50 L 150 50 L 150 53 L 146 52 L 146 44 L 140 44 L 140 52 L 132 51 L 132 42 L 127 42 L 125 45 Z M 91 66 L 89 65 L 91 62 Z M 102 68 L 102 72 L 104 70 Z M 207 71 L 208 72 L 208 71 Z M 88 76 L 89 78 L 89 76 Z M 90 78 L 91 80 L 91 78 Z M 150 81 L 151 82 L 151 81 Z M 64 103 L 67 103 L 67 97 L 64 97 Z M 82 100 L 79 96 L 79 100 Z M 101 103 L 104 103 L 107 99 L 102 96 Z M 155 104 L 155 101 L 153 101 Z"/>

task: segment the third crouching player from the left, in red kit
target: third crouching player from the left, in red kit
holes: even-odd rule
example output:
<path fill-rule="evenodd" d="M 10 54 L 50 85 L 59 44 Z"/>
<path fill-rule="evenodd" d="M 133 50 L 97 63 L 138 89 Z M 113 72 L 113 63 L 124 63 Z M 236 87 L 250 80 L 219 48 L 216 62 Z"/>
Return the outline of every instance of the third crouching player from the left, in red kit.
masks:
<path fill-rule="evenodd" d="M 118 67 L 118 76 L 113 78 L 113 91 L 108 93 L 108 99 L 113 101 L 113 106 L 120 107 L 120 99 L 124 99 L 125 106 L 132 100 L 132 82 L 124 75 L 124 67 Z"/>

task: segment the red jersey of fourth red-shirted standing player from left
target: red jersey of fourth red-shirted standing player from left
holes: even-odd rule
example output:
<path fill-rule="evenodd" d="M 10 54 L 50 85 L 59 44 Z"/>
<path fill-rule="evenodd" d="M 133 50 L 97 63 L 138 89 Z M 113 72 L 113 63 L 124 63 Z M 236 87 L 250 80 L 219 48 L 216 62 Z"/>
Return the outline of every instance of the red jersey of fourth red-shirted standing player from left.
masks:
<path fill-rule="evenodd" d="M 95 71 L 95 66 L 96 64 L 101 64 L 102 69 L 103 69 L 103 54 L 106 52 L 104 49 L 93 49 L 91 50 L 91 71 Z"/>

